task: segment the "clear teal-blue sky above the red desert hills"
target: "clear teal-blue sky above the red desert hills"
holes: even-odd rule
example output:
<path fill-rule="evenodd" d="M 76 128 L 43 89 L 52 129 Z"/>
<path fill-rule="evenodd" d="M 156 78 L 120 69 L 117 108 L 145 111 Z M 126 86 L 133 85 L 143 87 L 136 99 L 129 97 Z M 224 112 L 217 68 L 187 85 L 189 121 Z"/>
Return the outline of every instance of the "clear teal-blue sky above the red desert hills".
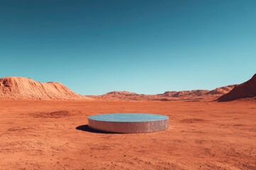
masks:
<path fill-rule="evenodd" d="M 80 94 L 215 89 L 256 73 L 256 1 L 0 0 L 0 77 Z"/>

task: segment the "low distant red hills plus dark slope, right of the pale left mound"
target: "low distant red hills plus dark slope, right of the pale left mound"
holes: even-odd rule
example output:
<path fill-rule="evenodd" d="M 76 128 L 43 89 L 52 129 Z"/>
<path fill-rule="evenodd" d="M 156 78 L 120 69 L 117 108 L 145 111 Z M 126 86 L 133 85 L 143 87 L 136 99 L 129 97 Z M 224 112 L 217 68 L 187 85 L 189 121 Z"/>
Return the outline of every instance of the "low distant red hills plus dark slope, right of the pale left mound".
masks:
<path fill-rule="evenodd" d="M 112 91 L 100 96 L 90 96 L 102 100 L 126 100 L 126 101 L 233 101 L 240 98 L 256 98 L 256 74 L 242 84 L 222 86 L 211 91 L 166 91 L 164 94 L 146 95 L 129 91 Z"/>

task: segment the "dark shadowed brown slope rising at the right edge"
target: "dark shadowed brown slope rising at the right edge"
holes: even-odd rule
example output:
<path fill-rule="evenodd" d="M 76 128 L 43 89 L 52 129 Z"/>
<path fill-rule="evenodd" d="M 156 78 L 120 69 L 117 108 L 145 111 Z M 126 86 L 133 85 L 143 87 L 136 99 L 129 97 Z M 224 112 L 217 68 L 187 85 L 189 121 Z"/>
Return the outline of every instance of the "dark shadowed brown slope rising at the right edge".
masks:
<path fill-rule="evenodd" d="M 239 98 L 252 98 L 256 96 L 256 74 L 252 79 L 242 83 L 230 91 L 228 94 L 224 94 L 218 101 L 234 101 Z"/>

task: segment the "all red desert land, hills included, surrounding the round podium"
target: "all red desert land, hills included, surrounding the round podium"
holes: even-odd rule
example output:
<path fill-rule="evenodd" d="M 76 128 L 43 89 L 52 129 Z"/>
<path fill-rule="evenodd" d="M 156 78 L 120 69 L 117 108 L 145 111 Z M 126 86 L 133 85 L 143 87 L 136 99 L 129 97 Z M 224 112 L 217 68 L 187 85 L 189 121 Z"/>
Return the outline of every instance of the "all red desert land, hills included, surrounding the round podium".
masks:
<path fill-rule="evenodd" d="M 239 82 L 238 82 L 239 83 Z M 0 79 L 0 169 L 256 169 L 256 74 L 211 91 L 82 96 L 60 83 Z M 89 130 L 100 113 L 158 113 L 169 129 Z"/>

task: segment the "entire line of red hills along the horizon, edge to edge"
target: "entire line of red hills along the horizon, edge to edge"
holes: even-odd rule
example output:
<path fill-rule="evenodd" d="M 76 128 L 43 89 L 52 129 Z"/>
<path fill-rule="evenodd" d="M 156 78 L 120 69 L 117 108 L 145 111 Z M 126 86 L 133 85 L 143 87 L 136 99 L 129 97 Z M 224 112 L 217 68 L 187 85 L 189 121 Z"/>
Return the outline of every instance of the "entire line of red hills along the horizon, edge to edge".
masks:
<path fill-rule="evenodd" d="M 107 100 L 107 101 L 233 101 L 255 98 L 256 74 L 239 85 L 222 86 L 211 91 L 166 91 L 164 94 L 136 94 L 129 91 L 111 91 L 99 96 L 82 96 L 57 82 L 41 83 L 26 77 L 0 79 L 0 99 L 7 100 Z"/>

